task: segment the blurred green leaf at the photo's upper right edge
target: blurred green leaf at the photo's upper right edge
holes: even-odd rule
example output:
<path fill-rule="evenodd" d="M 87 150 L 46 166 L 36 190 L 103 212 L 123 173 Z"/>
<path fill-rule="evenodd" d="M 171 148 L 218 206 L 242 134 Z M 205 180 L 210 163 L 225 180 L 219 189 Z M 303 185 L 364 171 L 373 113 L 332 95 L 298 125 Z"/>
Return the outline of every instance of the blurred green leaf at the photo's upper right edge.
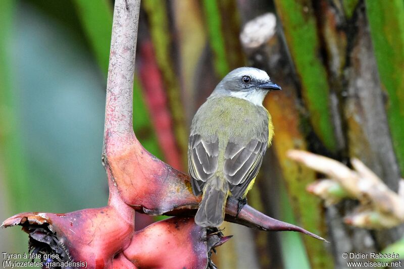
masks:
<path fill-rule="evenodd" d="M 393 147 L 404 174 L 404 2 L 366 1 L 382 89 L 387 92 L 387 118 Z"/>

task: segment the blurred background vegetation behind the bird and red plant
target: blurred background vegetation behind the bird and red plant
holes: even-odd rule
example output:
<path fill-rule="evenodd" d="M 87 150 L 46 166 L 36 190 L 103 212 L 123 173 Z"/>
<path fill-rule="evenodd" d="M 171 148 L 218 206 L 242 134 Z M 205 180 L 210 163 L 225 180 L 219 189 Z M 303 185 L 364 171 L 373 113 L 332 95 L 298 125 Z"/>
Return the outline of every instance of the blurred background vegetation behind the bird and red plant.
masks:
<path fill-rule="evenodd" d="M 108 0 L 0 4 L 0 219 L 107 201 L 100 164 L 112 26 Z M 239 34 L 267 12 L 276 33 L 248 50 Z M 142 144 L 186 171 L 194 112 L 230 70 L 256 66 L 284 89 L 265 105 L 275 139 L 248 201 L 330 244 L 297 233 L 226 224 L 219 268 L 330 268 L 343 252 L 380 251 L 402 237 L 343 223 L 354 201 L 325 207 L 305 191 L 318 177 L 286 157 L 307 149 L 358 157 L 393 190 L 404 173 L 404 2 L 401 0 L 144 0 L 136 56 L 134 128 Z M 140 229 L 150 218 L 136 218 Z M 1 251 L 26 236 L 0 232 Z"/>

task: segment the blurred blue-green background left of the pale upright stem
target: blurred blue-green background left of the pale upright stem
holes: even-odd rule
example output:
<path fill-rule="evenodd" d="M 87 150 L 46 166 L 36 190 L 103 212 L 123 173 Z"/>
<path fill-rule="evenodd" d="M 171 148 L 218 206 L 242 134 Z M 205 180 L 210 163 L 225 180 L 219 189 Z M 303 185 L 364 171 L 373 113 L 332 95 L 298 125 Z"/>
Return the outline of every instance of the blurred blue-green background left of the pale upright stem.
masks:
<path fill-rule="evenodd" d="M 100 163 L 104 79 L 85 43 L 36 5 L 8 0 L 0 8 L 0 180 L 10 199 L 2 220 L 97 207 L 108 195 Z M 18 230 L 0 231 L 18 233 L 2 252 L 27 251 Z"/>

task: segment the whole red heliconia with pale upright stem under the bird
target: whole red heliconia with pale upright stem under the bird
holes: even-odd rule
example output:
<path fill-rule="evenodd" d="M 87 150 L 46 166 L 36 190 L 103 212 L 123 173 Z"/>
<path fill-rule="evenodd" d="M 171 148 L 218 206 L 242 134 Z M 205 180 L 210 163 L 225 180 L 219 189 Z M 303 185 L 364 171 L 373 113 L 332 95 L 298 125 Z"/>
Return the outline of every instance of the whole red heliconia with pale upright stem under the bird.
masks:
<path fill-rule="evenodd" d="M 87 268 L 211 268 L 211 250 L 230 237 L 193 222 L 200 197 L 189 176 L 147 152 L 132 127 L 132 88 L 139 0 L 116 0 L 108 73 L 103 165 L 110 197 L 102 208 L 66 214 L 20 213 L 2 227 L 23 226 L 30 251 L 53 253 L 50 261 L 84 262 Z M 236 218 L 230 197 L 226 220 L 272 231 L 298 231 L 246 205 Z M 134 232 L 135 210 L 174 217 Z M 324 240 L 324 239 L 322 239 Z"/>

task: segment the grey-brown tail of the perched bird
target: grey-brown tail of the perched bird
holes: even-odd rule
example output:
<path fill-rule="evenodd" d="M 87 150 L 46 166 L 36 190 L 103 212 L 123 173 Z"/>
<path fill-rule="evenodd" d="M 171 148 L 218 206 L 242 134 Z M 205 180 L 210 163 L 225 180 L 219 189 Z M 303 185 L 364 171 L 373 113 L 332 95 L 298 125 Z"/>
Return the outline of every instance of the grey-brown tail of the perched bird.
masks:
<path fill-rule="evenodd" d="M 219 227 L 224 221 L 227 186 L 219 189 L 212 185 L 208 183 L 205 186 L 202 201 L 195 215 L 195 223 L 202 227 Z"/>

